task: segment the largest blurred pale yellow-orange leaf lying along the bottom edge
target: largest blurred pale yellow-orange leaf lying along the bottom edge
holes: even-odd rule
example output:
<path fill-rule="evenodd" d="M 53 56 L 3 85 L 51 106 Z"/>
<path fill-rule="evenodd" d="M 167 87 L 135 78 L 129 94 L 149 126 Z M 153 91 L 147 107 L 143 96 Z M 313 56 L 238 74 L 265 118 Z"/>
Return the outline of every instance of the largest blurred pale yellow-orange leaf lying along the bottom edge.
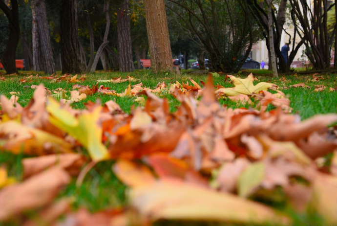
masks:
<path fill-rule="evenodd" d="M 130 200 L 141 214 L 152 221 L 168 219 L 291 225 L 288 218 L 265 205 L 172 179 L 134 187 Z"/>

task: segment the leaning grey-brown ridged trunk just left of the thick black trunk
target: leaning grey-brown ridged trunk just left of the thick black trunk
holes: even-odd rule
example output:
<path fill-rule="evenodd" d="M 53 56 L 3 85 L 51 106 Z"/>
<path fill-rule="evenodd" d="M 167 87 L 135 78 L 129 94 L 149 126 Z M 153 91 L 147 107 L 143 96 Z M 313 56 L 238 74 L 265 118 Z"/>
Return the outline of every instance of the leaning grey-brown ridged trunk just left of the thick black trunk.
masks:
<path fill-rule="evenodd" d="M 43 70 L 45 73 L 53 74 L 54 59 L 50 44 L 50 36 L 47 22 L 47 14 L 44 0 L 32 1 L 33 15 L 33 62 L 34 70 Z M 36 69 L 35 65 L 40 67 Z"/>

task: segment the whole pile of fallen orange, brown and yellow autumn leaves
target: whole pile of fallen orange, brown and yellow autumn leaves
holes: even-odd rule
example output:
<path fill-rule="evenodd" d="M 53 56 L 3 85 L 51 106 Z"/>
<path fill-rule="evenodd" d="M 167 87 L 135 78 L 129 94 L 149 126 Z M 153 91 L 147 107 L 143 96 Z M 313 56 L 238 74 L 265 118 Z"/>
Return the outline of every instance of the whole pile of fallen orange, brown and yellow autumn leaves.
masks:
<path fill-rule="evenodd" d="M 289 113 L 289 99 L 274 84 L 254 86 L 253 75 L 230 79 L 233 88 L 214 87 L 211 77 L 203 88 L 194 81 L 172 84 L 167 90 L 181 102 L 174 113 L 167 99 L 154 94 L 165 90 L 165 83 L 156 91 L 129 86 L 128 95 L 147 97 L 145 106 L 130 114 L 113 101 L 87 102 L 85 110 L 75 110 L 42 85 L 24 108 L 17 96 L 1 96 L 0 149 L 31 157 L 22 159 L 22 181 L 8 176 L 5 165 L 0 168 L 0 222 L 291 225 L 291 216 L 271 205 L 277 193 L 296 212 L 315 209 L 327 223 L 337 224 L 337 131 L 329 127 L 337 114 L 301 121 Z M 217 101 L 226 96 L 258 104 L 231 109 Z M 269 104 L 275 108 L 268 112 Z M 128 186 L 127 206 L 91 213 L 73 208 L 69 198 L 57 198 L 71 178 L 81 184 L 99 161 L 114 162 L 106 170 Z M 32 211 L 35 217 L 28 218 Z"/>

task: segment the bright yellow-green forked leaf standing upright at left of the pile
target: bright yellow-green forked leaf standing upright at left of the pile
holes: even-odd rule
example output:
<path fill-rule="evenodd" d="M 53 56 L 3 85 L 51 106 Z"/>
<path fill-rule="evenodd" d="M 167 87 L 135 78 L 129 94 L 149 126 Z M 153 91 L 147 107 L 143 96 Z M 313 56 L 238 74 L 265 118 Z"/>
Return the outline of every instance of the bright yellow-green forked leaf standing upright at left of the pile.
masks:
<path fill-rule="evenodd" d="M 109 158 L 107 149 L 102 143 L 103 130 L 98 124 L 102 107 L 97 107 L 92 112 L 82 113 L 75 118 L 61 109 L 56 100 L 49 98 L 46 109 L 51 114 L 50 123 L 79 141 L 94 161 Z"/>

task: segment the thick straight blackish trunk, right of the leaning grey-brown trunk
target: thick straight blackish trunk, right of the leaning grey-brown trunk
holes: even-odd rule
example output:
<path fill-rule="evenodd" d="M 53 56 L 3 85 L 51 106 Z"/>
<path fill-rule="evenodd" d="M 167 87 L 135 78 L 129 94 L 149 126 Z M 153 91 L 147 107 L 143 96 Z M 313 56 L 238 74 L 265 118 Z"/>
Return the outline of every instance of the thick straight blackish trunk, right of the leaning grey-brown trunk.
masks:
<path fill-rule="evenodd" d="M 77 0 L 63 0 L 61 6 L 62 73 L 82 73 L 80 42 L 77 33 Z"/>

